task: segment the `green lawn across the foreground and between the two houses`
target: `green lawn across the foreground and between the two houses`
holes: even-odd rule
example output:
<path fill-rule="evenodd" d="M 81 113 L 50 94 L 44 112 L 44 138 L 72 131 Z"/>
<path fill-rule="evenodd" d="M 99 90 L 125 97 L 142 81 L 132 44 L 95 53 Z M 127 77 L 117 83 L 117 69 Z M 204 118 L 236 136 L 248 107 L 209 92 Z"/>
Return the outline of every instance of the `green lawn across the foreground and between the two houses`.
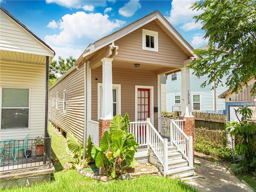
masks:
<path fill-rule="evenodd" d="M 101 181 L 86 178 L 78 174 L 76 170 L 61 172 L 66 161 L 72 161 L 72 158 L 66 152 L 66 139 L 53 131 L 49 126 L 49 132 L 52 136 L 52 157 L 55 160 L 54 180 L 30 187 L 2 189 L 3 192 L 198 192 L 192 186 L 177 179 L 159 176 L 143 176 L 129 180 L 112 180 L 104 183 Z"/>

